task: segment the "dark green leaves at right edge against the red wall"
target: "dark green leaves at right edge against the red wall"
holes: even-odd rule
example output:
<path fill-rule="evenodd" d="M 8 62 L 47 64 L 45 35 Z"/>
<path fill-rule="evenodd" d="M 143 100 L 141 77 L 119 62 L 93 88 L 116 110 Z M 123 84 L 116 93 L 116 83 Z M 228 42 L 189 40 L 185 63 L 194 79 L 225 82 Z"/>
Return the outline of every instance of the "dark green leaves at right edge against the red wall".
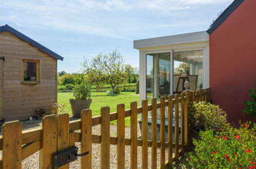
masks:
<path fill-rule="evenodd" d="M 256 82 L 254 83 L 254 87 L 256 87 Z M 251 115 L 254 118 L 256 118 L 256 89 L 252 88 L 249 89 L 249 92 L 251 92 L 249 94 L 249 98 L 251 98 L 251 100 L 246 101 L 245 104 L 245 109 L 243 110 L 244 115 Z"/>

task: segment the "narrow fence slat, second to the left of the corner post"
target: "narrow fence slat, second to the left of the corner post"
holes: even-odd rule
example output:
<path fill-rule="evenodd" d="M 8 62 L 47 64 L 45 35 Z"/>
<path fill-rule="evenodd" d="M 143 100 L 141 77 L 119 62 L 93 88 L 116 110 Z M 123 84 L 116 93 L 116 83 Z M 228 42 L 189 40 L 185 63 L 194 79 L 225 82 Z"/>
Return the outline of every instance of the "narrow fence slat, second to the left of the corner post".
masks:
<path fill-rule="evenodd" d="M 174 95 L 174 112 L 175 112 L 175 121 L 174 121 L 174 135 L 175 135 L 175 162 L 179 160 L 179 95 Z"/>

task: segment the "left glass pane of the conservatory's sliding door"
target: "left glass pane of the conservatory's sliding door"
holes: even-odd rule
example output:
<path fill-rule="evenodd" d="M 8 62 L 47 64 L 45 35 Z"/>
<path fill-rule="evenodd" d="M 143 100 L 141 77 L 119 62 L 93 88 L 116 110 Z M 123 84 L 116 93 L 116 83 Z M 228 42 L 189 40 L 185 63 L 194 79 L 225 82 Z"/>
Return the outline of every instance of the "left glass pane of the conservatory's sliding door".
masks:
<path fill-rule="evenodd" d="M 170 52 L 147 54 L 146 95 L 160 100 L 170 94 Z"/>

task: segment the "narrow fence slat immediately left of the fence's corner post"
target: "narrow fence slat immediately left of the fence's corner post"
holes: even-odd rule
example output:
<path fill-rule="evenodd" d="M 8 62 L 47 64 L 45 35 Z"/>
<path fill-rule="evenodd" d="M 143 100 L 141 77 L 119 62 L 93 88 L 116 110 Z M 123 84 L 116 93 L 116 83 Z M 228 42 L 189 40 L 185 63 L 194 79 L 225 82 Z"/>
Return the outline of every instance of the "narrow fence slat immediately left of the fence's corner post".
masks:
<path fill-rule="evenodd" d="M 184 139 L 184 106 L 185 106 L 185 93 L 181 93 L 181 155 L 182 155 L 182 158 L 184 157 L 184 153 L 185 153 L 185 149 L 184 149 L 184 142 L 185 142 L 185 139 Z"/>

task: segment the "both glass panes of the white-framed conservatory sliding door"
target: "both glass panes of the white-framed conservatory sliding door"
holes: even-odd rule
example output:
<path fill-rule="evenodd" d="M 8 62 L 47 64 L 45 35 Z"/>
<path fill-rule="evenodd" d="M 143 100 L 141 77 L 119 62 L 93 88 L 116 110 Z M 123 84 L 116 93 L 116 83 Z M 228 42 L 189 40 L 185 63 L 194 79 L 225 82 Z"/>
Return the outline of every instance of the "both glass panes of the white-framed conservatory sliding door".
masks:
<path fill-rule="evenodd" d="M 185 81 L 189 81 L 190 90 L 203 88 L 203 50 L 146 54 L 147 99 L 180 94 Z"/>

